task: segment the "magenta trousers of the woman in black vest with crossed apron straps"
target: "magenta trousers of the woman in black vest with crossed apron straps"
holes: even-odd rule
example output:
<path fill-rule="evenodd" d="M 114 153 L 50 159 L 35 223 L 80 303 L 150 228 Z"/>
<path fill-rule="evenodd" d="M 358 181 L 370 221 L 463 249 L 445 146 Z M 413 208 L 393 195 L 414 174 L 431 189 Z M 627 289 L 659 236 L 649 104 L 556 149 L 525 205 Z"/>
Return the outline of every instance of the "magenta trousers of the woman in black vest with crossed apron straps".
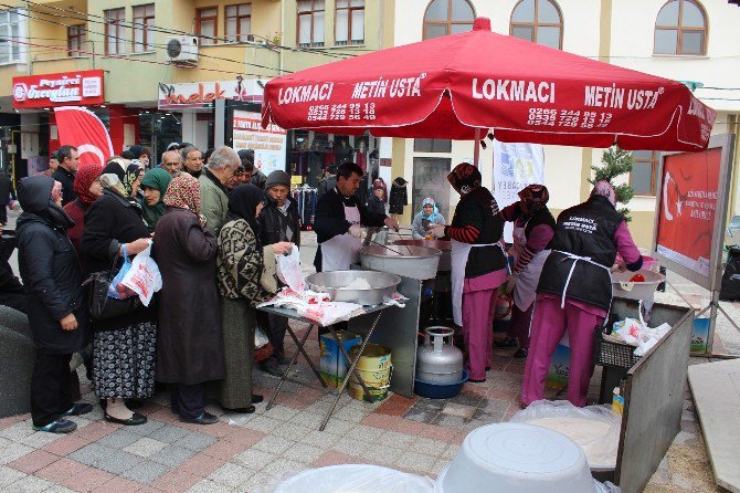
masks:
<path fill-rule="evenodd" d="M 603 323 L 603 317 L 593 315 L 568 300 L 565 307 L 561 308 L 560 297 L 538 296 L 535 305 L 529 354 L 521 385 L 521 403 L 529 406 L 542 399 L 550 358 L 568 331 L 570 370 L 565 397 L 573 406 L 583 407 L 593 375 L 593 328 Z"/>

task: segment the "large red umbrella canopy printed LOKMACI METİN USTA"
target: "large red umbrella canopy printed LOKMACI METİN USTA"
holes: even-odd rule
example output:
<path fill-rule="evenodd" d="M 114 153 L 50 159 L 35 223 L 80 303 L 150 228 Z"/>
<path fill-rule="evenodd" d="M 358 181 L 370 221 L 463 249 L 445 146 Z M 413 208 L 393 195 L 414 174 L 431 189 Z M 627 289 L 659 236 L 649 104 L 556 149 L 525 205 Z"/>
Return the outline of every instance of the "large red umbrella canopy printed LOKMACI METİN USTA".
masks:
<path fill-rule="evenodd" d="M 315 66 L 265 86 L 263 126 L 335 134 L 702 150 L 716 112 L 681 83 L 473 31 Z M 477 146 L 476 146 L 477 147 Z"/>

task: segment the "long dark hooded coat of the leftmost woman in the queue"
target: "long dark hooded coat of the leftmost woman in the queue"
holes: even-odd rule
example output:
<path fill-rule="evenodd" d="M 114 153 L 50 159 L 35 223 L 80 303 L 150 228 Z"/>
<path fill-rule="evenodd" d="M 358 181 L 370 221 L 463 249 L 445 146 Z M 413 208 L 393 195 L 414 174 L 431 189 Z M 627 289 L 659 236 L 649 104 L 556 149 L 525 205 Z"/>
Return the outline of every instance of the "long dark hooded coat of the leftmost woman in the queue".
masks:
<path fill-rule="evenodd" d="M 18 266 L 29 295 L 29 323 L 36 350 L 71 354 L 87 340 L 88 315 L 77 254 L 63 225 L 47 214 L 51 177 L 27 178 L 20 190 L 23 213 L 18 219 Z M 75 331 L 60 321 L 73 313 Z"/>

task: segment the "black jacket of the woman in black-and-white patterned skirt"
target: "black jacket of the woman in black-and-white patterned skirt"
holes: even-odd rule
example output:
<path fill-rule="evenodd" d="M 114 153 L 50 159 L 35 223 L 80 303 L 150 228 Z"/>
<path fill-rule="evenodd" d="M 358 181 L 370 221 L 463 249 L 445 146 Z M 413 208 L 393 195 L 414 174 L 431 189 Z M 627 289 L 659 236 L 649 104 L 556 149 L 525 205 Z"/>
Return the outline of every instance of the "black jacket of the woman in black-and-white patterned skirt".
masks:
<path fill-rule="evenodd" d="M 85 231 L 80 240 L 80 253 L 88 270 L 86 274 L 109 271 L 114 259 L 118 258 L 120 244 L 139 238 L 149 238 L 149 230 L 141 219 L 141 210 L 118 193 L 103 190 L 103 197 L 95 200 L 87 209 Z M 121 261 L 116 262 L 118 268 L 120 264 Z M 126 325 L 152 319 L 157 313 L 152 305 L 119 318 L 96 321 L 95 329 L 123 328 Z"/>

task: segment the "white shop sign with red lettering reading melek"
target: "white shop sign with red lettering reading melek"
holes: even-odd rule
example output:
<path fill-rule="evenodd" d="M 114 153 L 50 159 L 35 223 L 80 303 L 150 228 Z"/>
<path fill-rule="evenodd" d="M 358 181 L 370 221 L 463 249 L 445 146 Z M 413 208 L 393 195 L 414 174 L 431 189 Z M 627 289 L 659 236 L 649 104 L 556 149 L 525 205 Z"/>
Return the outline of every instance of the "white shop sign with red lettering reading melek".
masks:
<path fill-rule="evenodd" d="M 210 107 L 215 99 L 242 103 L 262 103 L 266 80 L 243 78 L 231 81 L 193 82 L 186 84 L 159 83 L 159 109 L 186 109 Z"/>

